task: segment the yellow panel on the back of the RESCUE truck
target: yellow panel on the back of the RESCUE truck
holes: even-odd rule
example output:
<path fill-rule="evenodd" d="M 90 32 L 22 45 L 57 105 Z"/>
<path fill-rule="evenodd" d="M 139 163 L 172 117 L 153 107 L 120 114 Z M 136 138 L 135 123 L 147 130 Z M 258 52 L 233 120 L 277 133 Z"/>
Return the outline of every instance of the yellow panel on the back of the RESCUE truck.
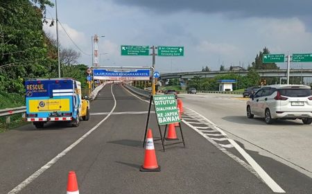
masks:
<path fill-rule="evenodd" d="M 29 100 L 29 112 L 69 111 L 69 99 Z"/>

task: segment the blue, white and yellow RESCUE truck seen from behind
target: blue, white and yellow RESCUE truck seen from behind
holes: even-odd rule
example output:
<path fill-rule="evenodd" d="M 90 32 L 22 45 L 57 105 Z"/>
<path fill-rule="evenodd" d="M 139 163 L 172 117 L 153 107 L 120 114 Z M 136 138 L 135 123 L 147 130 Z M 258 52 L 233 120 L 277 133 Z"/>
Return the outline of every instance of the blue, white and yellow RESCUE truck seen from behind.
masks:
<path fill-rule="evenodd" d="M 26 119 L 42 128 L 48 121 L 78 127 L 89 120 L 89 100 L 81 96 L 81 84 L 71 78 L 26 80 Z"/>

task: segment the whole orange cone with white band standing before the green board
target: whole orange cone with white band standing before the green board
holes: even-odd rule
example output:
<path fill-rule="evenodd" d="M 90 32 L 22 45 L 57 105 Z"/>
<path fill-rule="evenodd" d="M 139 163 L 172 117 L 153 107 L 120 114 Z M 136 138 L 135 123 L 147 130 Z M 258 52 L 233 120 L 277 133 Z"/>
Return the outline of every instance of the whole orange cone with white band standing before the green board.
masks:
<path fill-rule="evenodd" d="M 160 166 L 157 164 L 152 130 L 148 130 L 146 138 L 146 147 L 144 155 L 144 164 L 140 168 L 141 172 L 160 172 Z"/>

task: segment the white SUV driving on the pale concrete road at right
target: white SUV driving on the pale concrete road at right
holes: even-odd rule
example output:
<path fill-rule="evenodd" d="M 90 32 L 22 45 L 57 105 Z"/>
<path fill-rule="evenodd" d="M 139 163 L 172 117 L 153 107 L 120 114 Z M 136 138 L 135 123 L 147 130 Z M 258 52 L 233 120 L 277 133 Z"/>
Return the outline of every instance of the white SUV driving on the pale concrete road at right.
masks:
<path fill-rule="evenodd" d="M 247 117 L 265 118 L 267 124 L 275 118 L 302 119 L 312 123 L 311 87 L 305 85 L 269 85 L 259 89 L 247 102 Z"/>

